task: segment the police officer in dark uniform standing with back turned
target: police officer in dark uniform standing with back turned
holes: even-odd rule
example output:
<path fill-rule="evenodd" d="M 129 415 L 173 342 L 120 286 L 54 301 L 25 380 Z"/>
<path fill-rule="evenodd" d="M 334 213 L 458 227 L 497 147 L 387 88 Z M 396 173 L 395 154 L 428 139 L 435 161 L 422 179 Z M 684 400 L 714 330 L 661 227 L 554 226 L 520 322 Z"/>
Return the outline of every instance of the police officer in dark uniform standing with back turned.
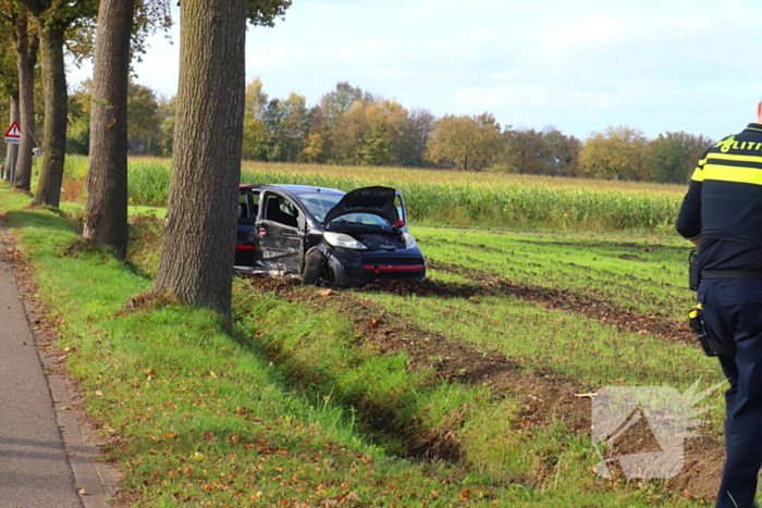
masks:
<path fill-rule="evenodd" d="M 716 508 L 755 507 L 762 467 L 762 102 L 757 116 L 706 150 L 677 219 L 699 246 L 698 300 L 730 384 Z"/>

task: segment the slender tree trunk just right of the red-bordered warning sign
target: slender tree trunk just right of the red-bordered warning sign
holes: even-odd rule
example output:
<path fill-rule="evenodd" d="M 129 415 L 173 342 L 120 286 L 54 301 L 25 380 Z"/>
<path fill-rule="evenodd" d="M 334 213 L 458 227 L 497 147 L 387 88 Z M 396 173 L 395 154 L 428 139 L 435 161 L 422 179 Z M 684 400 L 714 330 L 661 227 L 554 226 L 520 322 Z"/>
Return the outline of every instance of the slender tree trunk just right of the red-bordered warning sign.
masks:
<path fill-rule="evenodd" d="M 21 9 L 16 20 L 16 71 L 19 73 L 19 108 L 21 143 L 16 160 L 13 187 L 29 190 L 32 182 L 32 149 L 35 141 L 35 65 L 37 64 L 38 39 L 29 36 L 28 17 Z"/>

